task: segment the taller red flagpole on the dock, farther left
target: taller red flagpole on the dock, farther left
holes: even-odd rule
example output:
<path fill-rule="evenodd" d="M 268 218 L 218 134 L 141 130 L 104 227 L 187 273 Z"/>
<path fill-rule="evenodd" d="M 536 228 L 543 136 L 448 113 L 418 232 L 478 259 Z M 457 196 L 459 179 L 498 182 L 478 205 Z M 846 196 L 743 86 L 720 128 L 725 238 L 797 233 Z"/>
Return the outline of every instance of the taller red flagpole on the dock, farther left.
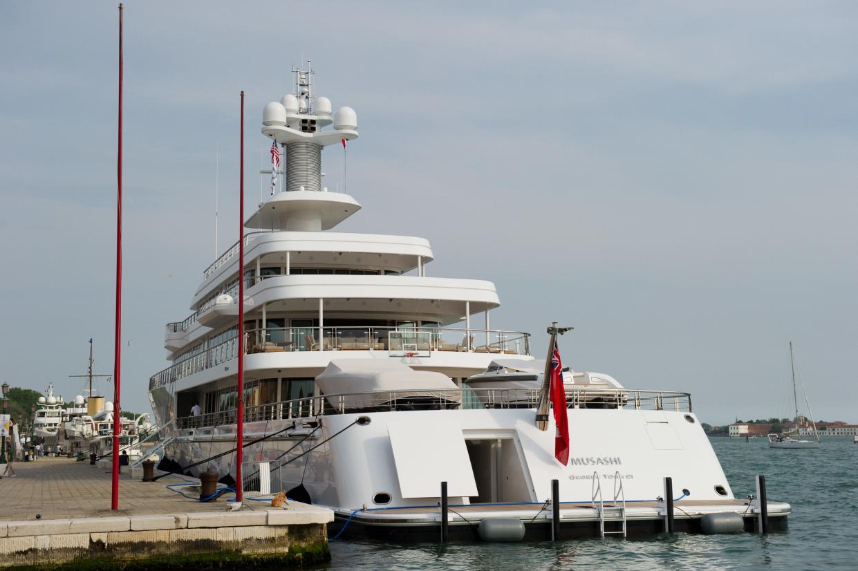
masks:
<path fill-rule="evenodd" d="M 122 4 L 119 4 L 119 125 L 116 179 L 116 333 L 113 339 L 113 478 L 111 484 L 111 509 L 119 508 L 119 434 L 122 432 L 122 418 L 119 415 L 119 377 L 122 358 Z"/>

